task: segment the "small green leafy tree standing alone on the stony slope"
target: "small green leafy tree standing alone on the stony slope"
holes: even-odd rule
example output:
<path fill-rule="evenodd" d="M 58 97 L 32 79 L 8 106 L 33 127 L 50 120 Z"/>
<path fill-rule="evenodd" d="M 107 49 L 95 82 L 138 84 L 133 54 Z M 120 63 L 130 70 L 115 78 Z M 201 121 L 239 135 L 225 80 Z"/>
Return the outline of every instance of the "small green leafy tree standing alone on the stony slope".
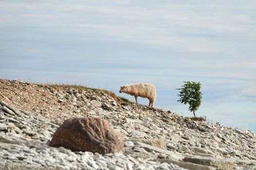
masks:
<path fill-rule="evenodd" d="M 177 88 L 179 94 L 177 95 L 179 100 L 177 102 L 181 102 L 184 104 L 189 104 L 189 111 L 193 112 L 196 117 L 196 111 L 201 104 L 202 93 L 200 91 L 201 84 L 198 82 L 183 82 L 184 85 L 181 88 Z"/>

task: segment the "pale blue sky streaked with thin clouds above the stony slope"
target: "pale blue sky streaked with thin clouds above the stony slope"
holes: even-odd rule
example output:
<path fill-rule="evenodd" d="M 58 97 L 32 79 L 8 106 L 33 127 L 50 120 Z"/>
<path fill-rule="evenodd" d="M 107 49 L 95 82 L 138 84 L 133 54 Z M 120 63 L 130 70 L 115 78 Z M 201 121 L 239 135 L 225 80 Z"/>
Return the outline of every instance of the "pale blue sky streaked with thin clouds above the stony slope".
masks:
<path fill-rule="evenodd" d="M 256 131 L 255 0 L 0 0 L 0 78 L 157 87 L 155 107 L 201 83 L 196 115 Z M 148 104 L 147 99 L 138 102 Z"/>

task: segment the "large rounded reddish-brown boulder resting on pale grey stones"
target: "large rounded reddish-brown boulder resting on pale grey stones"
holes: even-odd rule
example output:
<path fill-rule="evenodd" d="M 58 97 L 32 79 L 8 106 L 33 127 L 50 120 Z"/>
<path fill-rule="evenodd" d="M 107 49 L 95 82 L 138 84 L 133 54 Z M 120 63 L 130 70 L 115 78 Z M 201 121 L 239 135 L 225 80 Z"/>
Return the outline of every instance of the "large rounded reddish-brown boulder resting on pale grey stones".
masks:
<path fill-rule="evenodd" d="M 67 119 L 54 133 L 52 147 L 71 151 L 115 153 L 123 150 L 124 137 L 114 132 L 108 120 L 87 117 Z"/>

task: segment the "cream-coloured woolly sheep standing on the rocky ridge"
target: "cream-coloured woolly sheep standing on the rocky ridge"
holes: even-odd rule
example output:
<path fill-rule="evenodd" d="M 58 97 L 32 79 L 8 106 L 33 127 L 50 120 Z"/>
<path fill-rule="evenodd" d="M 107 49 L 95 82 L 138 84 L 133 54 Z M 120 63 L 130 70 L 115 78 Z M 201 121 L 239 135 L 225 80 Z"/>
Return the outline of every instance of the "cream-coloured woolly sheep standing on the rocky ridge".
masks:
<path fill-rule="evenodd" d="M 130 94 L 135 97 L 136 104 L 138 104 L 137 98 L 148 98 L 149 99 L 149 107 L 153 107 L 154 102 L 157 99 L 157 89 L 154 85 L 151 84 L 132 84 L 132 85 L 122 85 L 120 86 L 119 93 Z"/>

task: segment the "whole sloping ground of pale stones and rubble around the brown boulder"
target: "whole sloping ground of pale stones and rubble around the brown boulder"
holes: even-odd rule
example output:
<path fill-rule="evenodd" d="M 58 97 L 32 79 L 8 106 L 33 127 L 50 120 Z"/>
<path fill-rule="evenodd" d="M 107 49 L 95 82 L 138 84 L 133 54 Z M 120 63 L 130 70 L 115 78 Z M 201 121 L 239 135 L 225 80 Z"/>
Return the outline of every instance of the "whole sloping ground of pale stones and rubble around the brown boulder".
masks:
<path fill-rule="evenodd" d="M 256 134 L 120 102 L 104 91 L 0 79 L 0 169 L 256 170 Z M 123 153 L 49 146 L 63 120 L 100 117 L 125 137 Z"/>

